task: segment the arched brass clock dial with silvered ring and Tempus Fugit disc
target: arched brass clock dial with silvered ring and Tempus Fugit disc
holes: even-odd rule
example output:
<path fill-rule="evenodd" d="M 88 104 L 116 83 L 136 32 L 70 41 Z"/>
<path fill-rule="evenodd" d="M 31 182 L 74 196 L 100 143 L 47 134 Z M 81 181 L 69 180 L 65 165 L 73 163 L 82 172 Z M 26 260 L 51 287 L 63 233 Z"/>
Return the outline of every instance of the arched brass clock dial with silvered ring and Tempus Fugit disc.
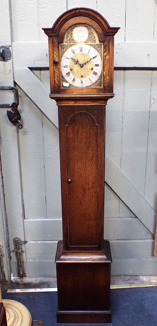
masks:
<path fill-rule="evenodd" d="M 102 87 L 103 45 L 93 27 L 71 26 L 60 44 L 61 87 Z"/>

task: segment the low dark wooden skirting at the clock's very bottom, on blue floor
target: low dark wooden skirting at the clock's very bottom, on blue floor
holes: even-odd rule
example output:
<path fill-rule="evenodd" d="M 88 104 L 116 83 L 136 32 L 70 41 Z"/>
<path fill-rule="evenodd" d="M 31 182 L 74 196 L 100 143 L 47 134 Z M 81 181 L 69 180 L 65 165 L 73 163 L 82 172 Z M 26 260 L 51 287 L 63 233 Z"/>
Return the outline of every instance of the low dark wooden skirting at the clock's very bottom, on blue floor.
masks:
<path fill-rule="evenodd" d="M 58 323 L 111 323 L 111 311 L 59 311 Z"/>

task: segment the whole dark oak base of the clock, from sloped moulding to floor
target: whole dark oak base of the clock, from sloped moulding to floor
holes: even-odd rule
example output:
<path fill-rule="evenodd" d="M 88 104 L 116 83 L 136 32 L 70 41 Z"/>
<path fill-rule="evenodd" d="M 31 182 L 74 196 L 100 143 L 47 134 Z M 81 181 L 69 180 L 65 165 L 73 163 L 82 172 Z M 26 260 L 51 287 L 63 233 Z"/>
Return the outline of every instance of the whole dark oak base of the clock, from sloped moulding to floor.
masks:
<path fill-rule="evenodd" d="M 56 253 L 58 309 L 57 322 L 111 322 L 111 252 L 104 240 L 102 251 L 62 251 Z"/>

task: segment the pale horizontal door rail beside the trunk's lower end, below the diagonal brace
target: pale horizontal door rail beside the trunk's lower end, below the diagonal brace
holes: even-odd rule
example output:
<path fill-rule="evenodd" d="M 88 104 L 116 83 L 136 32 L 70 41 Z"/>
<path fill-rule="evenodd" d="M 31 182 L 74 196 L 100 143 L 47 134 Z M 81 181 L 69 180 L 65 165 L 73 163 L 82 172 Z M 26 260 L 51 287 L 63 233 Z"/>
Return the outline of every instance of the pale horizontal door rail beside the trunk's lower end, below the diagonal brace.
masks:
<path fill-rule="evenodd" d="M 25 219 L 27 241 L 62 239 L 61 219 Z M 152 234 L 137 218 L 105 218 L 105 239 L 151 239 Z"/>

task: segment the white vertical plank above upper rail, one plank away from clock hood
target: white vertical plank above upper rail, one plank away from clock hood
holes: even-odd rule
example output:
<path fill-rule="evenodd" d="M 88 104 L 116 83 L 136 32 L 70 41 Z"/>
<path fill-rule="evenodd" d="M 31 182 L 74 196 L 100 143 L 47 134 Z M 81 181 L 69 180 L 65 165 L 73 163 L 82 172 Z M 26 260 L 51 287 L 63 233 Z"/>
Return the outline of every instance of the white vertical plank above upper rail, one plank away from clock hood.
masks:
<path fill-rule="evenodd" d="M 11 0 L 13 41 L 38 41 L 38 1 Z"/>

